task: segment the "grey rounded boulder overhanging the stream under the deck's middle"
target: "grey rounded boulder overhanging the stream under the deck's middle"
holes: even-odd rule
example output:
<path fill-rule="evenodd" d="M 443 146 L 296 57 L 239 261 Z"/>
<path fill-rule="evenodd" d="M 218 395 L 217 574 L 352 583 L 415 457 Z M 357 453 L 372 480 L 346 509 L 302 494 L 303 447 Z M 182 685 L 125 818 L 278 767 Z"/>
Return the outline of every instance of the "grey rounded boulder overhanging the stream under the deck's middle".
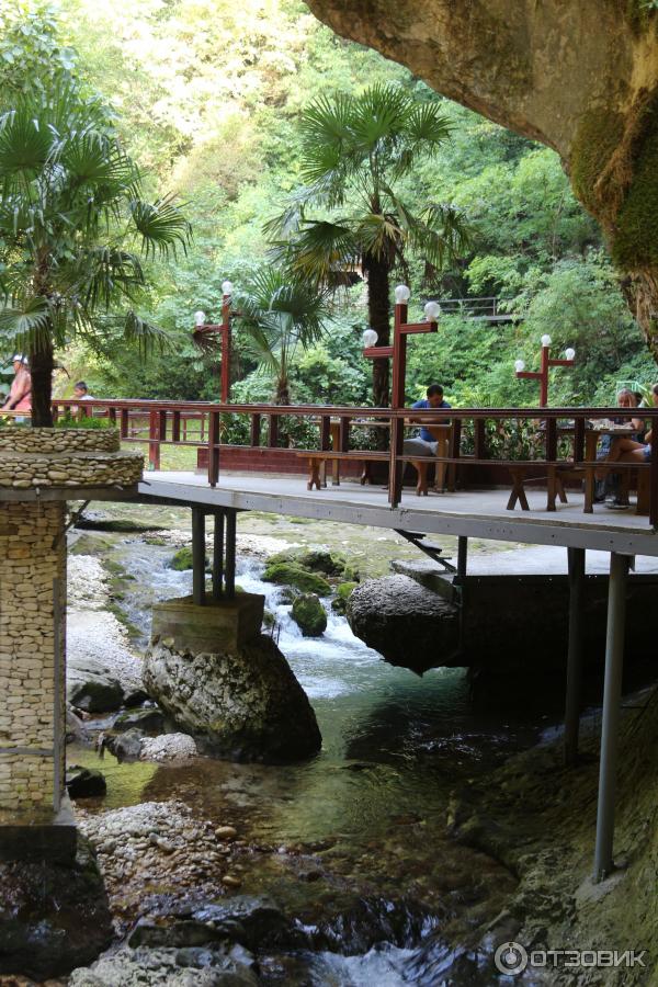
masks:
<path fill-rule="evenodd" d="M 361 583 L 348 600 L 347 616 L 356 637 L 390 665 L 422 674 L 461 663 L 457 608 L 408 576 Z"/>

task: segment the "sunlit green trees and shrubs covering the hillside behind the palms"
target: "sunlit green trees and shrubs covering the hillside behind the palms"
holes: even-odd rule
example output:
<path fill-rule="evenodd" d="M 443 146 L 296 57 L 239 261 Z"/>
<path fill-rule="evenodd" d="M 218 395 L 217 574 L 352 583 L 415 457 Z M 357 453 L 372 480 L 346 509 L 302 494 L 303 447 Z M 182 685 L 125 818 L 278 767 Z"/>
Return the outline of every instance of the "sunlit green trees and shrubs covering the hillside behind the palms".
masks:
<path fill-rule="evenodd" d="M 635 7 L 639 2 L 633 0 Z M 642 22 L 648 22 L 647 14 Z M 368 209 L 362 211 L 364 241 L 367 235 L 376 242 L 386 231 L 399 237 L 401 230 L 407 237 L 401 222 L 406 213 L 419 216 L 431 204 L 449 204 L 467 222 L 472 241 L 458 258 L 444 253 L 439 270 L 426 263 L 427 251 L 406 251 L 400 275 L 412 290 L 411 318 L 421 316 L 429 296 L 467 295 L 501 296 L 526 317 L 515 326 L 494 327 L 444 318 L 435 337 L 410 340 L 409 400 L 439 379 L 453 404 L 535 404 L 536 387 L 514 377 L 513 361 L 522 355 L 534 366 L 544 331 L 556 347 L 574 344 L 577 350 L 574 371 L 553 372 L 552 402 L 608 402 L 616 381 L 648 382 L 656 376 L 601 252 L 600 231 L 571 194 L 557 155 L 443 100 L 376 53 L 338 38 L 300 0 L 245 0 L 237 5 L 229 0 L 134 0 L 128 5 L 123 0 L 67 0 L 57 13 L 36 0 L 2 3 L 0 100 L 7 103 L 12 91 L 31 93 L 59 73 L 75 76 L 83 99 L 101 93 L 106 133 L 116 135 L 124 152 L 143 166 L 141 197 L 166 198 L 168 190 L 175 189 L 194 228 L 186 254 L 179 251 L 173 263 L 154 260 L 149 249 L 148 272 L 138 240 L 126 249 L 149 282 L 139 304 L 131 307 L 138 308 L 148 325 L 166 330 L 175 358 L 156 349 L 147 364 L 140 363 L 125 344 L 125 320 L 114 308 L 105 314 L 100 285 L 97 332 L 75 338 L 67 332 L 63 361 L 73 379 L 89 382 L 94 395 L 218 398 L 218 355 L 194 347 L 193 313 L 201 308 L 218 321 L 222 282 L 228 277 L 237 292 L 243 291 L 269 263 L 262 225 L 281 214 L 291 194 L 306 184 L 308 105 L 320 95 L 331 106 L 352 105 L 366 91 L 390 83 L 396 100 L 408 99 L 419 107 L 418 126 L 423 114 L 432 126 L 442 121 L 440 127 L 450 129 L 450 138 L 441 139 L 432 154 L 420 148 L 412 171 L 387 182 L 395 202 L 387 200 L 390 208 L 385 212 L 400 222 L 373 222 Z M 324 118 L 313 126 L 321 128 Z M 379 125 L 385 122 L 381 118 Z M 373 122 L 364 118 L 360 126 L 372 138 Z M 621 117 L 595 114 L 581 127 L 572 174 L 587 204 L 594 202 L 594 183 L 622 129 Z M 390 141 L 384 151 L 390 174 L 399 171 L 405 157 L 396 158 Z M 314 154 L 311 164 L 318 168 L 319 148 Z M 646 158 L 647 202 L 651 155 Z M 644 160 L 644 155 L 637 158 L 638 171 Z M 311 225 L 320 219 L 332 224 L 317 226 L 320 246 L 340 246 L 340 230 L 332 227 L 356 212 L 350 196 L 336 208 L 320 201 L 305 208 Z M 629 208 L 623 231 L 629 249 L 636 225 L 651 222 L 654 212 L 647 208 L 640 215 L 640 200 L 637 211 Z M 137 218 L 144 224 L 149 217 L 138 213 Z M 342 247 L 348 246 L 345 240 Z M 363 282 L 341 291 L 322 337 L 295 348 L 287 367 L 294 400 L 373 401 L 372 365 L 361 354 L 361 334 L 372 324 L 367 300 Z M 387 310 L 388 299 L 383 318 Z M 139 326 L 135 328 L 139 334 Z M 262 361 L 238 321 L 234 340 L 234 399 L 270 401 L 272 378 L 259 371 Z M 4 356 L 11 355 L 8 351 L 9 343 Z M 69 387 L 64 377 L 57 386 L 59 393 Z M 249 441 L 243 418 L 223 417 L 222 429 L 227 441 Z M 373 432 L 355 432 L 354 441 L 367 447 Z M 317 438 L 317 426 L 281 420 L 282 445 L 316 445 Z"/>

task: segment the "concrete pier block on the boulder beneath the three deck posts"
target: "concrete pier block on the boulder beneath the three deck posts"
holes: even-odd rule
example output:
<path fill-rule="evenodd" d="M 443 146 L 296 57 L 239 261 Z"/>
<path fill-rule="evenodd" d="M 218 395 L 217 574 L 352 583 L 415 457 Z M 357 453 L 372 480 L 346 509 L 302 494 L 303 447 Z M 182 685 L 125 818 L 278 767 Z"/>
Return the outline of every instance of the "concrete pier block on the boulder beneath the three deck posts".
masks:
<path fill-rule="evenodd" d="M 260 634 L 264 604 L 265 598 L 256 593 L 208 599 L 203 606 L 192 597 L 164 600 L 154 605 L 151 640 L 193 654 L 235 651 Z"/>

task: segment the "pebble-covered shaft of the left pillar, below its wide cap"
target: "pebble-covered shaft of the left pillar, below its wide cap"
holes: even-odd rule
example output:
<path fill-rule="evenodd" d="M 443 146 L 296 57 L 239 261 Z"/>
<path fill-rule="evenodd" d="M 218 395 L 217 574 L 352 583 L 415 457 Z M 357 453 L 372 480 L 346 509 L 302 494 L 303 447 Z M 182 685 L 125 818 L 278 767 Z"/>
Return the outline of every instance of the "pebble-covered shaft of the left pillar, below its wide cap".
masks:
<path fill-rule="evenodd" d="M 65 508 L 0 503 L 0 813 L 15 814 L 15 821 L 36 819 L 54 803 L 54 742 L 66 695 Z M 61 793 L 64 744 L 58 776 Z"/>

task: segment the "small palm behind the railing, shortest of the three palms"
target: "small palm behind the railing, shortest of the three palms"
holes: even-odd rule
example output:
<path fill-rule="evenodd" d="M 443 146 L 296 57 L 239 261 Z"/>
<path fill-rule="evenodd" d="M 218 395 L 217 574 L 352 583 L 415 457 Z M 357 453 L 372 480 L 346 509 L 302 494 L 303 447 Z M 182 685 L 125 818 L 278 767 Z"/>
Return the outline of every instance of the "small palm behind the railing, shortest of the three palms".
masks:
<path fill-rule="evenodd" d="M 281 268 L 264 268 L 234 296 L 245 349 L 275 382 L 274 400 L 291 404 L 290 372 L 297 348 L 317 342 L 329 318 L 327 291 Z"/>

